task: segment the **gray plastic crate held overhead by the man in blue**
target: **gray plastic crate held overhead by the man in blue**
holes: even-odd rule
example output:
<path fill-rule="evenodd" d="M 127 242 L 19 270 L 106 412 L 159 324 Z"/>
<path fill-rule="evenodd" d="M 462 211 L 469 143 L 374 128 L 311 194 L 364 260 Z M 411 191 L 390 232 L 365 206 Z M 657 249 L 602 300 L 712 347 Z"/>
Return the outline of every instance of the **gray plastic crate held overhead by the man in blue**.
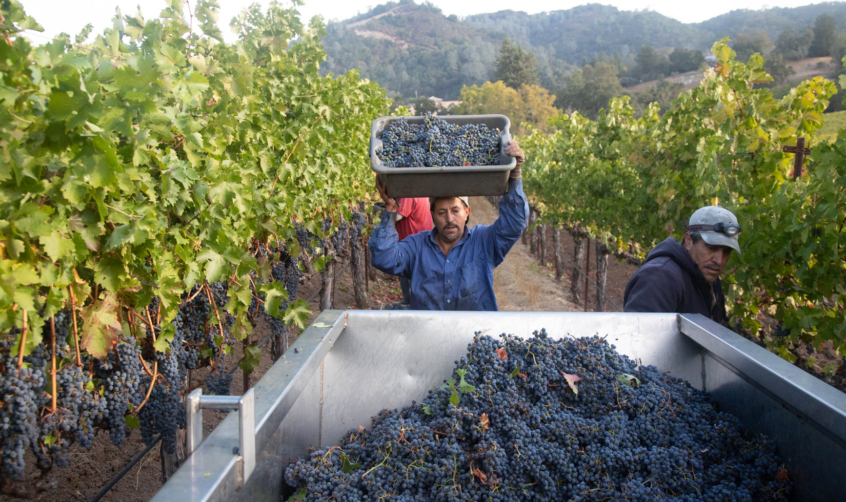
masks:
<path fill-rule="evenodd" d="M 388 167 L 376 156 L 382 148 L 382 131 L 387 124 L 404 118 L 423 123 L 423 117 L 379 117 L 371 126 L 371 168 L 379 175 L 390 197 L 459 197 L 463 195 L 502 195 L 508 190 L 508 172 L 517 161 L 505 154 L 511 140 L 511 121 L 504 115 L 440 115 L 448 123 L 482 123 L 499 128 L 500 148 L 497 166 Z"/>

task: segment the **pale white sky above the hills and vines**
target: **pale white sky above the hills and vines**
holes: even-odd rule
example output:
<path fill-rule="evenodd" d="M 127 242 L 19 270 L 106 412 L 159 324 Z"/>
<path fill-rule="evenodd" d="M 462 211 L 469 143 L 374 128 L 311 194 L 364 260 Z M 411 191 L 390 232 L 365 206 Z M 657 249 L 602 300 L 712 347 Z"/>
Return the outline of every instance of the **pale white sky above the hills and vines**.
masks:
<path fill-rule="evenodd" d="M 134 14 L 138 6 L 145 19 L 157 16 L 166 5 L 165 0 L 85 0 L 73 2 L 71 0 L 19 0 L 25 11 L 44 27 L 43 34 L 30 33 L 30 39 L 36 43 L 46 41 L 44 36 L 52 37 L 67 32 L 73 37 L 87 24 L 94 25 L 92 35 L 102 33 L 111 25 L 115 7 L 120 7 L 123 14 Z M 224 38 L 232 41 L 229 20 L 244 6 L 255 3 L 256 0 L 218 0 L 221 15 L 218 26 Z M 620 10 L 654 10 L 667 17 L 678 19 L 683 23 L 698 23 L 725 14 L 737 8 L 753 10 L 772 7 L 798 7 L 817 3 L 810 0 L 772 0 L 770 2 L 751 2 L 747 0 L 711 0 L 710 2 L 680 2 L 678 0 L 629 0 L 603 1 L 593 0 L 595 3 L 613 5 Z M 267 5 L 269 0 L 258 0 Z M 290 5 L 289 0 L 282 0 L 283 5 Z M 308 21 L 311 16 L 321 14 L 324 19 L 349 19 L 356 14 L 363 14 L 371 7 L 382 3 L 376 0 L 305 0 L 299 6 L 300 19 Z M 418 1 L 417 3 L 421 3 Z M 499 10 L 522 10 L 529 14 L 537 14 L 552 10 L 572 8 L 589 3 L 588 1 L 570 0 L 431 0 L 430 3 L 440 8 L 445 15 L 456 14 L 463 17 L 470 14 L 484 14 Z M 191 2 L 193 6 L 194 2 Z"/>

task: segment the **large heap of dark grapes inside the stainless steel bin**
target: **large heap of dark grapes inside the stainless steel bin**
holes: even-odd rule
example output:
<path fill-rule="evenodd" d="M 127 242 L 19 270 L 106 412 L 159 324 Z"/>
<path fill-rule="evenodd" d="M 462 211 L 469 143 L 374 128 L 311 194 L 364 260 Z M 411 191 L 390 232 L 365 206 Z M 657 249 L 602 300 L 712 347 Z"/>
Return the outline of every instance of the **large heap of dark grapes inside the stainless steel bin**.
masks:
<path fill-rule="evenodd" d="M 306 500 L 785 500 L 766 438 L 594 336 L 476 334 L 453 378 L 285 471 Z"/>

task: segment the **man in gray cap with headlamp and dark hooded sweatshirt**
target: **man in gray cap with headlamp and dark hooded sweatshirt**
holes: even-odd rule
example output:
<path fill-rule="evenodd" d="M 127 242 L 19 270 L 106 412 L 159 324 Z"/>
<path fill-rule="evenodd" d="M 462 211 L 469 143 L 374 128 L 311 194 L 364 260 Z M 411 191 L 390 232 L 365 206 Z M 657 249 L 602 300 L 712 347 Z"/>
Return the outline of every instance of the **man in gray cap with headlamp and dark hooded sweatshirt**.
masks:
<path fill-rule="evenodd" d="M 629 279 L 625 312 L 678 312 L 726 320 L 720 274 L 735 250 L 740 254 L 738 219 L 719 205 L 696 210 L 682 242 L 667 237 Z"/>

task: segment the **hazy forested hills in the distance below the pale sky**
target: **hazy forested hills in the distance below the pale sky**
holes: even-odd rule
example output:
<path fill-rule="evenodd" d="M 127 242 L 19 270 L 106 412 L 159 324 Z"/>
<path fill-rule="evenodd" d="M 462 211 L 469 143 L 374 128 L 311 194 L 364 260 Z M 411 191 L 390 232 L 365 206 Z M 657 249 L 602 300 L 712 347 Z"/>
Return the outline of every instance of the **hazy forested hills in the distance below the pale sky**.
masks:
<path fill-rule="evenodd" d="M 393 95 L 455 99 L 462 85 L 492 78 L 494 60 L 508 37 L 535 54 L 541 85 L 559 90 L 563 75 L 606 57 L 620 68 L 634 64 L 644 45 L 708 51 L 728 35 L 764 31 L 775 41 L 789 28 L 813 25 L 827 13 L 846 31 L 846 2 L 799 8 L 734 10 L 699 24 L 684 24 L 652 11 L 621 11 L 596 3 L 542 14 L 500 11 L 464 19 L 412 0 L 388 2 L 353 19 L 327 26 L 323 73 L 358 68 Z"/>

